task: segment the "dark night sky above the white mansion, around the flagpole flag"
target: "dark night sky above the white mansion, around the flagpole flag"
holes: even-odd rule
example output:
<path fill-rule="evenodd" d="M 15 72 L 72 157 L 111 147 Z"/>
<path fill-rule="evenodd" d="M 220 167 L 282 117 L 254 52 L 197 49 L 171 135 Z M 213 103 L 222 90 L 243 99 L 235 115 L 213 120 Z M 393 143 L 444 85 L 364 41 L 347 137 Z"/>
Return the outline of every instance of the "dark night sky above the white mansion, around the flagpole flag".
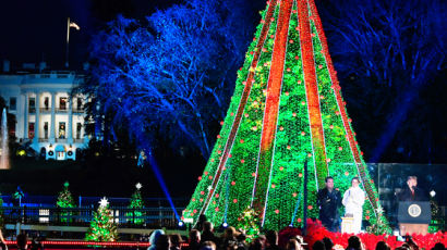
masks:
<path fill-rule="evenodd" d="M 81 68 L 88 58 L 92 34 L 118 13 L 143 17 L 178 0 L 25 0 L 4 1 L 0 8 L 0 60 L 14 68 L 22 63 L 46 61 L 52 70 L 63 68 L 67 18 L 81 30 L 70 30 L 71 68 Z"/>

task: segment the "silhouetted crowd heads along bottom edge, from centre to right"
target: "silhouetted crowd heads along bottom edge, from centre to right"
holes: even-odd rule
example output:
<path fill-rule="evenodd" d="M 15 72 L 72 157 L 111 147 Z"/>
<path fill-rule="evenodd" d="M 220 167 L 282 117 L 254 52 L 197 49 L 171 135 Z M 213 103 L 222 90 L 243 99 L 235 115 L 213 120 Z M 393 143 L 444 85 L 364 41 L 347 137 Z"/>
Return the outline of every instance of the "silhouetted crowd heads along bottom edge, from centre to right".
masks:
<path fill-rule="evenodd" d="M 307 246 L 304 238 L 300 235 L 287 239 L 285 246 L 278 245 L 278 233 L 268 230 L 265 235 L 250 240 L 243 233 L 235 230 L 234 227 L 227 227 L 221 237 L 214 233 L 213 224 L 204 222 L 202 230 L 192 229 L 188 239 L 183 239 L 179 234 L 165 235 L 160 229 L 152 233 L 149 237 L 150 247 L 148 250 L 341 250 L 340 246 L 334 246 L 333 240 L 323 238 Z M 385 241 L 376 245 L 376 250 L 390 250 Z M 419 250 L 418 245 L 410 238 L 402 242 L 398 250 Z M 358 236 L 351 236 L 348 239 L 346 250 L 365 250 L 364 245 Z M 440 242 L 436 243 L 432 250 L 445 250 Z"/>

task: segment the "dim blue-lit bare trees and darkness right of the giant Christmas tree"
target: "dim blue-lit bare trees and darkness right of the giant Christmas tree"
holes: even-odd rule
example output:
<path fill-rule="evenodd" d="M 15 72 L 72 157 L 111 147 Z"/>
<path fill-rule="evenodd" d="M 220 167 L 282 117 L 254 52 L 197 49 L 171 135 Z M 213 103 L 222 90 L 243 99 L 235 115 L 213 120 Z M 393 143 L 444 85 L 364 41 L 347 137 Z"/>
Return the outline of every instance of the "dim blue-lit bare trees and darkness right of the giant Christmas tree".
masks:
<path fill-rule="evenodd" d="M 317 2 L 318 4 L 318 2 Z M 369 161 L 445 162 L 442 1 L 325 2 L 321 10 Z M 364 132 L 364 133 L 363 133 Z"/>

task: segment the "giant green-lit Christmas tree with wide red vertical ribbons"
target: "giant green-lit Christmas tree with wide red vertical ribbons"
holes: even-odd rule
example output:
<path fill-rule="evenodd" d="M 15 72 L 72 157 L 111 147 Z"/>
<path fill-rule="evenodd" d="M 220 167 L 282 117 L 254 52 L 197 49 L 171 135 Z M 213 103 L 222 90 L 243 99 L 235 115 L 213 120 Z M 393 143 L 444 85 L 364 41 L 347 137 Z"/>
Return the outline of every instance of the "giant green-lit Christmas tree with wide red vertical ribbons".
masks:
<path fill-rule="evenodd" d="M 267 1 L 185 222 L 205 214 L 214 224 L 237 225 L 252 207 L 265 229 L 301 226 L 303 209 L 318 216 L 316 192 L 331 175 L 341 192 L 361 178 L 364 218 L 374 224 L 378 193 L 345 105 L 314 1 Z"/>

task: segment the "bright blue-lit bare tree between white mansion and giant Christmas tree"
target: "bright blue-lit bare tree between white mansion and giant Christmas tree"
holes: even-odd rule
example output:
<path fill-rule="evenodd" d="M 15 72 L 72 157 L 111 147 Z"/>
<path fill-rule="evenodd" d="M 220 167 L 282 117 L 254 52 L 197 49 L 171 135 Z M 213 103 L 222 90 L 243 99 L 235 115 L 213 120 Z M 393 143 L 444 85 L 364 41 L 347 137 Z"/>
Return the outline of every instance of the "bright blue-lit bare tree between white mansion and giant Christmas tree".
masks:
<path fill-rule="evenodd" d="M 118 16 L 96 35 L 83 88 L 95 97 L 97 118 L 111 115 L 112 136 L 125 126 L 134 137 L 190 141 L 207 158 L 209 123 L 225 115 L 252 34 L 244 4 L 189 1 L 145 21 Z"/>

